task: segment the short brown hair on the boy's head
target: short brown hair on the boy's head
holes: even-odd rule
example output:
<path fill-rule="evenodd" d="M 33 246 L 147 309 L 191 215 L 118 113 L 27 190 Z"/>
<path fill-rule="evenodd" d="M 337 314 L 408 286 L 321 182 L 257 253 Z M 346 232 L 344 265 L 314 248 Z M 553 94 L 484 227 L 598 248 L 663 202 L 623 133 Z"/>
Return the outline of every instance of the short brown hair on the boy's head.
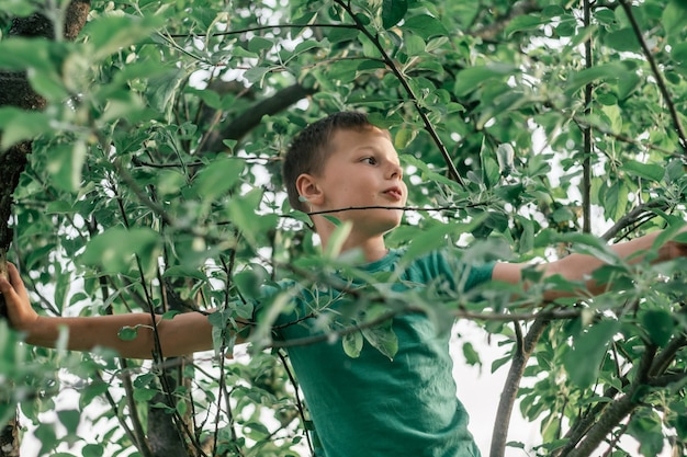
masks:
<path fill-rule="evenodd" d="M 307 205 L 299 199 L 296 180 L 303 173 L 317 174 L 329 156 L 333 135 L 341 129 L 360 130 L 372 127 L 364 113 L 344 111 L 314 122 L 293 139 L 284 157 L 282 176 L 289 195 L 289 203 L 294 209 L 307 213 Z"/>

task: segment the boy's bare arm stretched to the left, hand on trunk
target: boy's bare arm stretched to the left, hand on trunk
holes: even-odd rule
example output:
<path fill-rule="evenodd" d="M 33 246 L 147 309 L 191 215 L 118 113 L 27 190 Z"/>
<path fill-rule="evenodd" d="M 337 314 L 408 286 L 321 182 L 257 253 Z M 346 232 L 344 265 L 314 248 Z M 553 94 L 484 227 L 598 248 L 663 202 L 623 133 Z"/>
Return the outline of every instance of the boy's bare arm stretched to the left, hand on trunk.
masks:
<path fill-rule="evenodd" d="M 16 267 L 8 263 L 10 281 L 0 277 L 0 292 L 8 307 L 10 324 L 26 333 L 26 342 L 55 347 L 61 328 L 69 331 L 67 349 L 90 351 L 110 347 L 127 358 L 153 358 L 155 339 L 151 316 L 145 312 L 97 317 L 46 317 L 31 307 L 29 294 Z M 119 336 L 124 327 L 138 327 L 137 336 L 125 341 Z M 212 324 L 200 312 L 187 312 L 173 319 L 157 319 L 158 338 L 166 357 L 207 351 L 213 347 Z"/>

